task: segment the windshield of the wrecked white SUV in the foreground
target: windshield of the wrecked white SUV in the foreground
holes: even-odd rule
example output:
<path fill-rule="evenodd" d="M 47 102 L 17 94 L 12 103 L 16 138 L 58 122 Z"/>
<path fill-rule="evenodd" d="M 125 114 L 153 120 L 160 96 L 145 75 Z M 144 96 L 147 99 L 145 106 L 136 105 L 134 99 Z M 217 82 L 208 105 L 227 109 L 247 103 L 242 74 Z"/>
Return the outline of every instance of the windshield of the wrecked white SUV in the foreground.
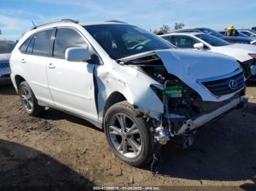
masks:
<path fill-rule="evenodd" d="M 164 39 L 136 26 L 84 26 L 110 58 L 119 59 L 151 50 L 174 48 Z"/>

